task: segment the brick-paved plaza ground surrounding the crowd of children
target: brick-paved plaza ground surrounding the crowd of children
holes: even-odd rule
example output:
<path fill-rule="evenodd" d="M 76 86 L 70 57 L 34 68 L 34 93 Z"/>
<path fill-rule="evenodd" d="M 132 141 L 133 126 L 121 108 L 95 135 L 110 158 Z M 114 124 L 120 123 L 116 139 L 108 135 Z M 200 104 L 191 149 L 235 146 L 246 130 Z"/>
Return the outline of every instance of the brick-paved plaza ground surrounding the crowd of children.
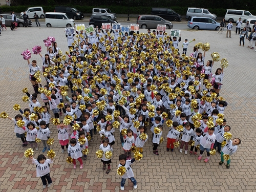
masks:
<path fill-rule="evenodd" d="M 32 49 L 35 45 L 41 45 L 42 40 L 48 36 L 54 36 L 58 47 L 63 53 L 67 51 L 67 39 L 62 28 L 18 28 L 17 31 L 3 31 L 0 51 L 0 111 L 6 111 L 14 117 L 17 112 L 12 110 L 15 103 L 19 103 L 22 109 L 27 108 L 28 103 L 22 101 L 22 89 L 27 87 L 32 93 L 32 86 L 28 78 L 27 61 L 23 60 L 20 53 L 26 49 Z M 151 143 L 144 147 L 144 158 L 133 164 L 135 178 L 138 181 L 138 191 L 255 191 L 255 124 L 256 124 L 256 97 L 255 97 L 255 60 L 254 50 L 239 47 L 239 36 L 232 34 L 232 38 L 226 38 L 225 34 L 217 34 L 216 31 L 182 31 L 184 38 L 196 38 L 196 42 L 209 42 L 210 51 L 206 53 L 206 59 L 210 59 L 210 53 L 219 52 L 221 58 L 227 58 L 229 67 L 225 69 L 224 85 L 221 95 L 229 103 L 225 110 L 227 124 L 231 126 L 233 137 L 239 137 L 242 144 L 239 150 L 231 157 L 231 166 L 226 169 L 224 164 L 218 165 L 219 155 L 210 158 L 208 163 L 198 161 L 194 155 L 165 152 L 165 141 L 159 147 L 159 156 L 153 155 Z M 190 52 L 196 42 L 189 45 Z M 179 45 L 181 47 L 181 44 Z M 42 53 L 45 53 L 43 51 Z M 41 60 L 38 55 L 32 55 L 32 59 Z M 214 71 L 220 66 L 215 63 Z M 45 82 L 42 82 L 45 84 Z M 63 116 L 62 116 L 63 118 Z M 20 139 L 13 133 L 13 124 L 8 119 L 0 119 L 0 191 L 41 191 L 40 178 L 36 178 L 35 166 L 24 157 L 24 148 Z M 119 191 L 120 177 L 116 174 L 118 156 L 122 153 L 118 135 L 114 148 L 112 172 L 106 175 L 102 171 L 100 160 L 96 158 L 95 151 L 100 144 L 100 138 L 90 143 L 88 160 L 82 170 L 72 169 L 72 165 L 66 163 L 68 154 L 61 154 L 60 145 L 57 142 L 56 127 L 50 126 L 55 143 L 53 149 L 56 152 L 54 164 L 51 165 L 51 177 L 53 186 L 48 191 Z M 167 127 L 164 127 L 166 136 Z M 94 137 L 96 138 L 96 137 Z M 42 149 L 42 143 L 39 145 Z M 37 151 L 35 156 L 41 152 Z M 126 182 L 126 191 L 133 191 L 132 183 Z M 47 191 L 45 189 L 44 191 Z M 136 191 L 136 190 L 134 190 Z"/>

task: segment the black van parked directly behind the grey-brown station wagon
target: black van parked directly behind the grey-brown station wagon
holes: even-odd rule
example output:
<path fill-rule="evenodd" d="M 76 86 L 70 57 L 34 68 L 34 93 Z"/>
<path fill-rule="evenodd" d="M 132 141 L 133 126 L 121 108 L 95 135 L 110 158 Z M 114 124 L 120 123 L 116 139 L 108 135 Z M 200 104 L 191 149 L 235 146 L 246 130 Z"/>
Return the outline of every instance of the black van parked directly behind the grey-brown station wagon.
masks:
<path fill-rule="evenodd" d="M 166 8 L 152 8 L 151 14 L 158 15 L 166 20 L 174 20 L 175 22 L 180 22 L 182 18 L 182 16 L 176 13 L 174 10 Z"/>

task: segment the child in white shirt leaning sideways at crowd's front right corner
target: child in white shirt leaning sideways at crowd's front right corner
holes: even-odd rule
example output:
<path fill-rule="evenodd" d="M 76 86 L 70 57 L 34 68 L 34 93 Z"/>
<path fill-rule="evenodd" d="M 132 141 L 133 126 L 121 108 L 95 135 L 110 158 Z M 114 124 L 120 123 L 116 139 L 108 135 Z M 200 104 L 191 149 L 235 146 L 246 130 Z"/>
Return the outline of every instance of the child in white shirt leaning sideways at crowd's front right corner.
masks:
<path fill-rule="evenodd" d="M 223 155 L 232 155 L 234 154 L 237 149 L 238 149 L 238 145 L 241 143 L 241 139 L 239 138 L 234 138 L 234 140 L 228 140 L 227 141 L 227 144 L 223 147 L 223 150 L 221 152 L 221 161 L 219 162 L 219 165 L 222 165 L 223 162 L 224 162 L 224 158 L 223 158 Z M 227 165 L 226 165 L 227 168 L 230 167 L 230 157 L 229 159 L 227 160 Z"/>

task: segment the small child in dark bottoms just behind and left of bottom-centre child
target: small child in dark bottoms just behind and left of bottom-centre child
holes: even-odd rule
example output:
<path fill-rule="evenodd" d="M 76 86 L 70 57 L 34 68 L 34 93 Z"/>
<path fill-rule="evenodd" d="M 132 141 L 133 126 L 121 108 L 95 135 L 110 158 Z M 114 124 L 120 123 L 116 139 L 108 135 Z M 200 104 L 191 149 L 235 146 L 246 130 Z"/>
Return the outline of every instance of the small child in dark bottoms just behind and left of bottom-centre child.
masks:
<path fill-rule="evenodd" d="M 102 144 L 99 146 L 99 150 L 103 151 L 103 156 L 101 158 L 101 162 L 103 163 L 103 170 L 106 168 L 106 164 L 108 164 L 108 169 L 106 170 L 106 174 L 110 173 L 110 163 L 111 163 L 111 157 L 113 148 L 109 144 L 109 139 L 105 138 L 102 140 Z"/>

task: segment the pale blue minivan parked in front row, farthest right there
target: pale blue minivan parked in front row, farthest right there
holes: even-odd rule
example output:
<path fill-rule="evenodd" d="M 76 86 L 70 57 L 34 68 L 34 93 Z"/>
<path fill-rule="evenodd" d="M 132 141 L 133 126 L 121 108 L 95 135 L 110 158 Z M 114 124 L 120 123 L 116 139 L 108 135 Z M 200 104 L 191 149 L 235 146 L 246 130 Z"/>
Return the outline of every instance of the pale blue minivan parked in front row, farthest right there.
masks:
<path fill-rule="evenodd" d="M 190 17 L 187 26 L 190 29 L 206 29 L 206 30 L 219 30 L 220 23 L 209 17 Z"/>

